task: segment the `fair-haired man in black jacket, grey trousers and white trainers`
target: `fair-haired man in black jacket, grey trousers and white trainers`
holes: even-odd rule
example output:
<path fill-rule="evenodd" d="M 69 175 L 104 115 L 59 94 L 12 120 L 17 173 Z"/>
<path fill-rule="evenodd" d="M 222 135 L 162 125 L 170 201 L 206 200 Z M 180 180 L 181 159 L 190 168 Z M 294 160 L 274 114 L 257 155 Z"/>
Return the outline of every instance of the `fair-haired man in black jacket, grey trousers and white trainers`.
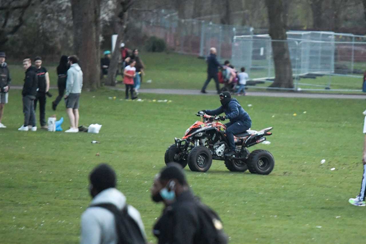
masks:
<path fill-rule="evenodd" d="M 36 99 L 38 88 L 37 69 L 32 66 L 30 59 L 23 60 L 23 68 L 25 69 L 25 79 L 22 90 L 24 124 L 18 130 L 27 131 L 28 125 L 31 125 L 32 131 L 36 131 L 37 126 L 36 115 L 34 113 L 34 99 Z"/>

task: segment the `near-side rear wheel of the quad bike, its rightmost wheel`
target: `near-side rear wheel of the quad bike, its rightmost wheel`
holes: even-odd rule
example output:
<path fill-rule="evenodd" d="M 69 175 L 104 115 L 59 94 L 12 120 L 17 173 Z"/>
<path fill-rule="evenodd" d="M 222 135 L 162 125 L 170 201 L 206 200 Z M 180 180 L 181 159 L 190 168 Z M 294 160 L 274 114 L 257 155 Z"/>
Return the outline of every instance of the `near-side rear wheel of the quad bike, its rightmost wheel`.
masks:
<path fill-rule="evenodd" d="M 247 166 L 250 173 L 269 174 L 275 167 L 275 159 L 270 152 L 257 149 L 249 154 Z"/>

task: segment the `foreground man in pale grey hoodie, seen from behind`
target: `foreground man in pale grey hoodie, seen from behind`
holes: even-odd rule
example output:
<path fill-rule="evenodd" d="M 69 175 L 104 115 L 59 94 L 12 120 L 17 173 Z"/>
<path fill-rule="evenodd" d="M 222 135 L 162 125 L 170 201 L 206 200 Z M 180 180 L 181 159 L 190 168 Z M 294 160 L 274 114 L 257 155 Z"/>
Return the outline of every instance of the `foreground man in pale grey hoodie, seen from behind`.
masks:
<path fill-rule="evenodd" d="M 90 207 L 81 215 L 81 244 L 116 244 L 115 217 L 111 211 L 103 207 L 93 207 L 97 204 L 111 203 L 119 210 L 126 205 L 126 197 L 116 187 L 116 173 L 108 164 L 100 164 L 89 175 L 89 191 L 93 200 Z M 140 213 L 131 205 L 127 213 L 139 226 L 146 240 L 145 229 Z"/>

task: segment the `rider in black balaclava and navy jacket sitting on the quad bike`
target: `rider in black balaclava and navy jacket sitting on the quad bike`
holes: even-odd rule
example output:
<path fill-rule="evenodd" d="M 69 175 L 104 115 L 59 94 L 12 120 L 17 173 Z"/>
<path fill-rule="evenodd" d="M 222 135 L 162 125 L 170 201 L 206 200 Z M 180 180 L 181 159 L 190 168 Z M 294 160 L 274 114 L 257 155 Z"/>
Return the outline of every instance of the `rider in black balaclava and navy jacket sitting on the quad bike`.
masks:
<path fill-rule="evenodd" d="M 249 114 L 240 106 L 238 100 L 231 98 L 230 92 L 220 93 L 220 103 L 221 107 L 215 110 L 202 110 L 208 115 L 219 115 L 223 112 L 225 116 L 220 116 L 219 118 L 224 121 L 225 119 L 230 119 L 229 123 L 226 123 L 226 137 L 229 143 L 230 151 L 225 154 L 225 156 L 235 155 L 235 143 L 234 135 L 243 133 L 251 127 L 251 118 Z"/>

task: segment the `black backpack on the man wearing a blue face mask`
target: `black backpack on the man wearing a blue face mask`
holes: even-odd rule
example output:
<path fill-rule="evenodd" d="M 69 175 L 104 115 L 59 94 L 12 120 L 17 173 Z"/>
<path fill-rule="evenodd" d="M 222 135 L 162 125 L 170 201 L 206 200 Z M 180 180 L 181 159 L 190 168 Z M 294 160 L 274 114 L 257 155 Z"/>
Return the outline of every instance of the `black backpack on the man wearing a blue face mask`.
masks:
<path fill-rule="evenodd" d="M 227 244 L 228 238 L 224 232 L 223 223 L 219 215 L 211 208 L 197 200 L 198 216 L 200 221 L 200 243 Z"/>

